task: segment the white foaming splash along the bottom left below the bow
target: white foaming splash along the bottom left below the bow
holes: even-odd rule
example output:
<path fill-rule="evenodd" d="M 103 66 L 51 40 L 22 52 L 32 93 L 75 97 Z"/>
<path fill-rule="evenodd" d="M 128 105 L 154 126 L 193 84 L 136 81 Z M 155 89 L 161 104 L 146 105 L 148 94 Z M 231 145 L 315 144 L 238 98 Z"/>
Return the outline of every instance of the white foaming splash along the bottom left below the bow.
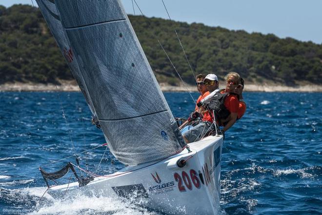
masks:
<path fill-rule="evenodd" d="M 54 199 L 45 187 L 3 189 L 1 200 L 14 206 L 8 212 L 28 215 L 158 215 L 120 198 L 78 195 Z"/>

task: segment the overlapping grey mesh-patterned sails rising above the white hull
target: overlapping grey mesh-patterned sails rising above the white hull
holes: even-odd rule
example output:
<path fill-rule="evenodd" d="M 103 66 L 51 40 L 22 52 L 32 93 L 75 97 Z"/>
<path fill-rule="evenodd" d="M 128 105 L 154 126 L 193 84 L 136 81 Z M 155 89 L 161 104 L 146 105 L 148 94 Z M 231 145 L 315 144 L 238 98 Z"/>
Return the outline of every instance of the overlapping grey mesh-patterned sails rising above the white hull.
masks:
<path fill-rule="evenodd" d="M 185 143 L 121 1 L 37 2 L 62 53 L 71 50 L 65 57 L 113 155 L 134 165 L 180 152 Z"/>

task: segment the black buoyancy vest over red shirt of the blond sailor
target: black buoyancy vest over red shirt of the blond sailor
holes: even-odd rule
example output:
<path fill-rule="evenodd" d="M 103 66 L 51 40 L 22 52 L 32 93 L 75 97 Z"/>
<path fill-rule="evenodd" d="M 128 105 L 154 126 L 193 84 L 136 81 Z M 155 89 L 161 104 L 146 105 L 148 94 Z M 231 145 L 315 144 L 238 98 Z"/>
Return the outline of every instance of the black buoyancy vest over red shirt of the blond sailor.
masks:
<path fill-rule="evenodd" d="M 230 115 L 230 111 L 225 106 L 225 99 L 229 95 L 236 95 L 239 99 L 239 96 L 235 93 L 223 93 L 221 94 L 221 91 L 218 91 L 214 97 L 210 100 L 208 104 L 208 109 L 210 110 L 210 113 L 215 113 L 216 119 L 226 119 Z"/>

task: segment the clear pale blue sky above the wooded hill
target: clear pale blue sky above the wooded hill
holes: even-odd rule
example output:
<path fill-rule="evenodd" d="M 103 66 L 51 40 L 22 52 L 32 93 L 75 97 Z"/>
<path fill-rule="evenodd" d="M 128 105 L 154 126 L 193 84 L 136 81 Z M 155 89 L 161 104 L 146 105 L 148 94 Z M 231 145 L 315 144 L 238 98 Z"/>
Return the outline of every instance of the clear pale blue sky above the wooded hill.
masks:
<path fill-rule="evenodd" d="M 36 4 L 36 0 L 0 0 L 10 7 L 15 3 Z M 134 0 L 133 0 L 134 1 Z M 170 18 L 188 23 L 221 26 L 249 33 L 272 33 L 280 38 L 322 44 L 322 0 L 163 0 Z M 147 17 L 169 19 L 162 0 L 136 0 Z M 132 0 L 122 0 L 128 14 L 134 14 Z M 135 14 L 141 14 L 135 6 Z"/>

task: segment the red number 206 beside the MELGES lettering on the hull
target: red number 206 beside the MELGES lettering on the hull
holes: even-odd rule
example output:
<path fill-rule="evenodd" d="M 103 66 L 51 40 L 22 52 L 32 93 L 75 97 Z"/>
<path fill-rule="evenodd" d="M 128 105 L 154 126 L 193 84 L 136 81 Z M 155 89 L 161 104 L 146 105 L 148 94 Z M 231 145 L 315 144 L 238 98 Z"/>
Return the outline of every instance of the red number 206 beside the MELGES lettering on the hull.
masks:
<path fill-rule="evenodd" d="M 192 186 L 198 189 L 201 186 L 198 174 L 195 170 L 190 170 L 189 174 L 185 171 L 182 171 L 181 175 L 179 173 L 175 173 L 173 176 L 178 182 L 178 188 L 180 192 L 185 192 L 186 188 L 188 190 L 192 190 Z"/>

